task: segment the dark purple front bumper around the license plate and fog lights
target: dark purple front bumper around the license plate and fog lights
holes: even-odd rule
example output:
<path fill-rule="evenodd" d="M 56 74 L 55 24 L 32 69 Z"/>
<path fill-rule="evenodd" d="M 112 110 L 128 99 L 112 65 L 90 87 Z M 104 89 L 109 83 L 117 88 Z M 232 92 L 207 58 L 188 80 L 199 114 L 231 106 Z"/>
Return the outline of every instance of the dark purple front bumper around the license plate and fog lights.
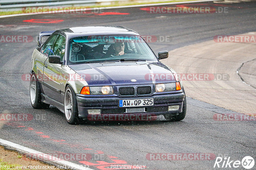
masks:
<path fill-rule="evenodd" d="M 118 107 L 119 100 L 122 99 L 147 99 L 153 98 L 153 106 L 141 106 L 141 107 Z M 76 96 L 78 115 L 80 118 L 88 117 L 98 117 L 98 116 L 111 116 L 111 117 L 120 117 L 120 116 L 138 116 L 138 115 L 165 115 L 170 114 L 172 116 L 179 115 L 182 112 L 183 101 L 185 94 L 183 91 L 173 94 L 161 94 L 154 96 L 141 96 L 141 97 L 87 97 L 87 96 Z M 168 106 L 179 105 L 179 110 L 177 111 L 168 111 Z M 144 112 L 127 112 L 127 108 L 145 108 Z M 100 115 L 88 115 L 88 109 L 100 109 Z"/>

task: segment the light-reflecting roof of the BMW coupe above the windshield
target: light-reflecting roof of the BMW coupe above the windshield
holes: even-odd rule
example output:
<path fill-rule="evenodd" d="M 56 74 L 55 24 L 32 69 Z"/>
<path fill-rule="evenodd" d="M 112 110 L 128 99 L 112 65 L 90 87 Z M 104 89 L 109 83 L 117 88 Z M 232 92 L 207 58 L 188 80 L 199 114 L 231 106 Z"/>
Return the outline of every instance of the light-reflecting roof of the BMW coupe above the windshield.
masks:
<path fill-rule="evenodd" d="M 124 28 L 123 26 L 84 26 L 84 27 L 72 27 L 67 29 L 58 30 L 56 32 L 63 32 L 69 38 L 77 36 L 89 36 L 89 35 L 139 35 L 137 32 Z"/>

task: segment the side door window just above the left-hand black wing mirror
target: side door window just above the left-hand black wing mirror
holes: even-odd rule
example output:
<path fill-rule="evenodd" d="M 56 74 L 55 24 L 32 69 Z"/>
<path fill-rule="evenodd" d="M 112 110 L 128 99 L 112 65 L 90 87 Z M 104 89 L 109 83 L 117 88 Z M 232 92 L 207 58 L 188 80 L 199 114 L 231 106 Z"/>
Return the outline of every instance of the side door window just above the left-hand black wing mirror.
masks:
<path fill-rule="evenodd" d="M 60 56 L 61 61 L 65 55 L 65 45 L 66 45 L 66 38 L 63 35 L 59 34 L 53 44 L 52 52 L 53 52 L 53 55 Z"/>

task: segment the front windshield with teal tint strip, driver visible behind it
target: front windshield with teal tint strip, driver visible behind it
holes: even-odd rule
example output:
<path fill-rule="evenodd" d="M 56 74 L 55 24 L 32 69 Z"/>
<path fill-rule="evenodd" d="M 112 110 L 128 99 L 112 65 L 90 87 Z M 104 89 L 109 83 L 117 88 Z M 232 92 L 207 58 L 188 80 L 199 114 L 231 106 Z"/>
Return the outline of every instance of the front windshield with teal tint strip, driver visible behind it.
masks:
<path fill-rule="evenodd" d="M 136 35 L 83 36 L 69 40 L 68 65 L 119 60 L 157 61 L 157 58 Z"/>

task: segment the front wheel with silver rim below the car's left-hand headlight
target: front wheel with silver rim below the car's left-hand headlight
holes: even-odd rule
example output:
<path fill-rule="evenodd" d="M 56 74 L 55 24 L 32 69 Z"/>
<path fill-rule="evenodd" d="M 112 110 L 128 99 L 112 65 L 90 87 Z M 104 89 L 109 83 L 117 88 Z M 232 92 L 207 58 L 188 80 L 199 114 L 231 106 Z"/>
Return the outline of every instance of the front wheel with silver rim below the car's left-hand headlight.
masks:
<path fill-rule="evenodd" d="M 67 86 L 64 97 L 64 112 L 69 124 L 79 124 L 76 94 L 71 86 Z"/>

